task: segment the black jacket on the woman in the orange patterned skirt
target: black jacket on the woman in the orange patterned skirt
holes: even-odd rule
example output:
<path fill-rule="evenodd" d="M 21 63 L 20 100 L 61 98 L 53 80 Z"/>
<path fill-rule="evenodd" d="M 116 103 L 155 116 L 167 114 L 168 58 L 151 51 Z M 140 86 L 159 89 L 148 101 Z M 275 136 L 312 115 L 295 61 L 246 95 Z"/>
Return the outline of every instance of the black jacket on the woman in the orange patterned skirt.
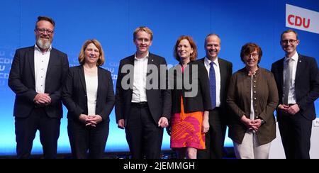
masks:
<path fill-rule="evenodd" d="M 194 70 L 195 65 L 198 70 Z M 185 78 L 186 82 L 193 86 L 191 89 L 186 89 L 184 86 L 185 75 L 186 77 L 188 76 L 188 79 Z M 181 96 L 183 97 L 185 113 L 213 110 L 211 108 L 208 74 L 205 66 L 203 66 L 201 62 L 189 62 L 183 74 L 181 73 L 181 65 L 169 69 L 169 79 L 170 84 L 174 86 L 174 89 L 172 89 L 172 113 L 181 112 Z M 181 82 L 179 85 L 181 88 L 177 88 L 177 81 Z M 194 89 L 194 86 L 197 87 L 197 89 Z M 195 96 L 186 97 L 185 92 L 191 91 L 197 94 Z"/>

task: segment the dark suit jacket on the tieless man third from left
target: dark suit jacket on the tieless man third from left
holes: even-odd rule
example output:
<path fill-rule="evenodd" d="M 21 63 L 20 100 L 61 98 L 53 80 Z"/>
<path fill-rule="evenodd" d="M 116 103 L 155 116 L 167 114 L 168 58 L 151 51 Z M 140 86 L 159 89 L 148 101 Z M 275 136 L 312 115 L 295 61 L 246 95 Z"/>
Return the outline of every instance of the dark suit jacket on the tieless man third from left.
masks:
<path fill-rule="evenodd" d="M 132 65 L 134 66 L 134 57 L 135 55 L 131 55 L 130 57 L 125 57 L 120 62 L 120 67 L 118 68 L 118 79 L 116 82 L 116 122 L 120 119 L 127 119 L 130 116 L 130 104 L 132 101 L 133 94 L 133 79 L 134 79 L 134 69 L 130 71 L 121 72 L 124 65 Z M 149 54 L 148 57 L 148 65 L 155 65 L 158 69 L 158 84 L 160 84 L 160 65 L 167 65 L 164 57 L 159 57 L 158 55 L 154 55 L 152 53 Z M 147 79 L 150 79 L 152 73 L 150 73 L 147 69 Z M 151 74 L 151 75 L 150 75 Z M 123 77 L 130 76 L 128 80 L 128 84 L 130 84 L 130 89 L 124 89 L 121 85 Z M 125 79 L 125 78 L 124 78 Z M 163 77 L 162 77 L 163 79 Z M 125 80 L 123 80 L 125 81 Z M 167 79 L 166 79 L 167 84 Z M 162 116 L 166 118 L 170 118 L 171 116 L 171 94 L 168 89 L 147 89 L 147 104 L 150 109 L 150 113 L 152 114 L 152 118 L 155 121 L 155 124 L 159 121 L 159 118 Z"/>

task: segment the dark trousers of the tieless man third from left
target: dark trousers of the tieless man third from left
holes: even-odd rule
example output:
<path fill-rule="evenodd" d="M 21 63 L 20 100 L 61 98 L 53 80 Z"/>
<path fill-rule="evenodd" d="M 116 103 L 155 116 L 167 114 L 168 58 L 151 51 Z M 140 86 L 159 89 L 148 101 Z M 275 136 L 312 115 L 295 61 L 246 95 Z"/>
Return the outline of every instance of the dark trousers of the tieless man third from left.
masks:
<path fill-rule="evenodd" d="M 126 140 L 133 159 L 159 159 L 162 147 L 163 128 L 152 118 L 147 104 L 130 107 L 126 120 Z"/>

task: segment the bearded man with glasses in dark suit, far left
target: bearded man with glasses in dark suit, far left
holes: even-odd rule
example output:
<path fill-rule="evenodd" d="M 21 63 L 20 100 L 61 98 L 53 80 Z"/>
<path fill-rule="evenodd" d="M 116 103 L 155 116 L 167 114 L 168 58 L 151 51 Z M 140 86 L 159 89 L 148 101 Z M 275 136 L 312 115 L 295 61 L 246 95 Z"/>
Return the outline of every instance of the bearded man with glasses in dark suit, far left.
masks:
<path fill-rule="evenodd" d="M 16 50 L 9 86 L 16 94 L 13 116 L 16 152 L 19 159 L 30 158 L 37 130 L 46 159 L 57 155 L 57 139 L 62 118 L 61 89 L 69 69 L 67 55 L 52 48 L 55 21 L 39 16 L 35 24 L 34 46 Z"/>

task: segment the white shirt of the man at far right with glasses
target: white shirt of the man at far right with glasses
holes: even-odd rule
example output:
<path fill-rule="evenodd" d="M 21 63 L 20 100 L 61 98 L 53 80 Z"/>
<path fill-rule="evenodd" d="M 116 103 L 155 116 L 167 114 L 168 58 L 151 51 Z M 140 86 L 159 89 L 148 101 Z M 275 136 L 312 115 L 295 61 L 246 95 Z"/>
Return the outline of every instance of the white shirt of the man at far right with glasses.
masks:
<path fill-rule="evenodd" d="M 289 89 L 289 94 L 288 94 L 288 104 L 296 104 L 297 103 L 297 99 L 296 99 L 296 92 L 295 92 L 295 81 L 296 81 L 296 71 L 297 71 L 297 65 L 298 65 L 298 59 L 299 59 L 299 56 L 298 56 L 298 53 L 296 52 L 295 55 L 293 55 L 291 57 L 291 59 L 293 60 L 293 69 L 292 69 L 292 74 L 291 74 L 291 84 L 289 85 L 290 86 L 290 89 Z M 288 60 L 288 57 L 285 57 L 285 60 L 284 60 L 284 81 L 285 81 L 285 78 L 286 78 L 286 68 L 287 68 L 287 60 Z"/>

